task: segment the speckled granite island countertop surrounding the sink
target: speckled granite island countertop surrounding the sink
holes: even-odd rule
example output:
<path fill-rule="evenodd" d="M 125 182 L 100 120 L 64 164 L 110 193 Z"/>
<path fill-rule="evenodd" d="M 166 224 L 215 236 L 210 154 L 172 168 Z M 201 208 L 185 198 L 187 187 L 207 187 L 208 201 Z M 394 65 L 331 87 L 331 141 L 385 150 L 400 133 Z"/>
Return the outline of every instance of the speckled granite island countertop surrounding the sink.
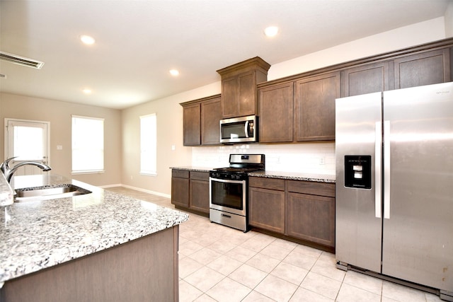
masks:
<path fill-rule="evenodd" d="M 59 175 L 16 176 L 11 187 L 68 183 L 91 193 L 14 202 L 0 208 L 0 288 L 9 279 L 112 248 L 188 220 L 188 214 L 183 212 Z"/>

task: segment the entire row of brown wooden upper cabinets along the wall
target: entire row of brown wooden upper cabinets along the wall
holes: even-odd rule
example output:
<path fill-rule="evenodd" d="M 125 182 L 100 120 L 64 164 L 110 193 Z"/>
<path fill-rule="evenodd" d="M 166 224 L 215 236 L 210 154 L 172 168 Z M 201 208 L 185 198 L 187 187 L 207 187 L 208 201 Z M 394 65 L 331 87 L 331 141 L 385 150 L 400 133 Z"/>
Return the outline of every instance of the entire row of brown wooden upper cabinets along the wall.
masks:
<path fill-rule="evenodd" d="M 183 103 L 184 145 L 219 144 L 219 120 L 258 115 L 260 143 L 335 140 L 335 100 L 452 81 L 453 38 L 267 81 L 260 57 L 219 69 L 222 94 Z"/>

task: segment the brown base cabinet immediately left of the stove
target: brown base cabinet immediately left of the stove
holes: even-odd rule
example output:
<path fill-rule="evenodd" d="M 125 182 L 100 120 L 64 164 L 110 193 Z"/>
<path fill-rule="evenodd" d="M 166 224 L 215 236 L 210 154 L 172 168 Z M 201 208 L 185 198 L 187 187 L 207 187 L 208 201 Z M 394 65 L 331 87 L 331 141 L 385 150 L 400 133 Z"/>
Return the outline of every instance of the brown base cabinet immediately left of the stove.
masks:
<path fill-rule="evenodd" d="M 190 172 L 189 208 L 203 213 L 210 212 L 210 173 Z"/>

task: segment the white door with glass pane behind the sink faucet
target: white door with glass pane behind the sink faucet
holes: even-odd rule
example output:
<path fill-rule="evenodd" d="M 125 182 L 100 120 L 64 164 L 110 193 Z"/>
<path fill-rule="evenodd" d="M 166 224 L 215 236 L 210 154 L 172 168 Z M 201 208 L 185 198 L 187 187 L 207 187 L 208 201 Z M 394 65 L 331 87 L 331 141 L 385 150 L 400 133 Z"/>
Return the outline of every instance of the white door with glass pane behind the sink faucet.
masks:
<path fill-rule="evenodd" d="M 5 158 L 17 157 L 10 161 L 12 168 L 23 161 L 37 161 L 49 164 L 50 122 L 5 119 Z M 41 174 L 35 165 L 24 165 L 14 175 Z"/>

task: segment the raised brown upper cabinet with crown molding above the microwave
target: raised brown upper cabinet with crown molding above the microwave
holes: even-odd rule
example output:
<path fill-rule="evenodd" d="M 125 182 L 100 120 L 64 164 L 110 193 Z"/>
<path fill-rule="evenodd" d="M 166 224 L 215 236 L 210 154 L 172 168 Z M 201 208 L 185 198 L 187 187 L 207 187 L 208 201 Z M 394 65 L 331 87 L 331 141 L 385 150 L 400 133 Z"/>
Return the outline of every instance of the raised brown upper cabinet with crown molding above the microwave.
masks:
<path fill-rule="evenodd" d="M 268 79 L 270 64 L 260 57 L 217 72 L 222 76 L 222 118 L 257 114 L 256 85 Z"/>

